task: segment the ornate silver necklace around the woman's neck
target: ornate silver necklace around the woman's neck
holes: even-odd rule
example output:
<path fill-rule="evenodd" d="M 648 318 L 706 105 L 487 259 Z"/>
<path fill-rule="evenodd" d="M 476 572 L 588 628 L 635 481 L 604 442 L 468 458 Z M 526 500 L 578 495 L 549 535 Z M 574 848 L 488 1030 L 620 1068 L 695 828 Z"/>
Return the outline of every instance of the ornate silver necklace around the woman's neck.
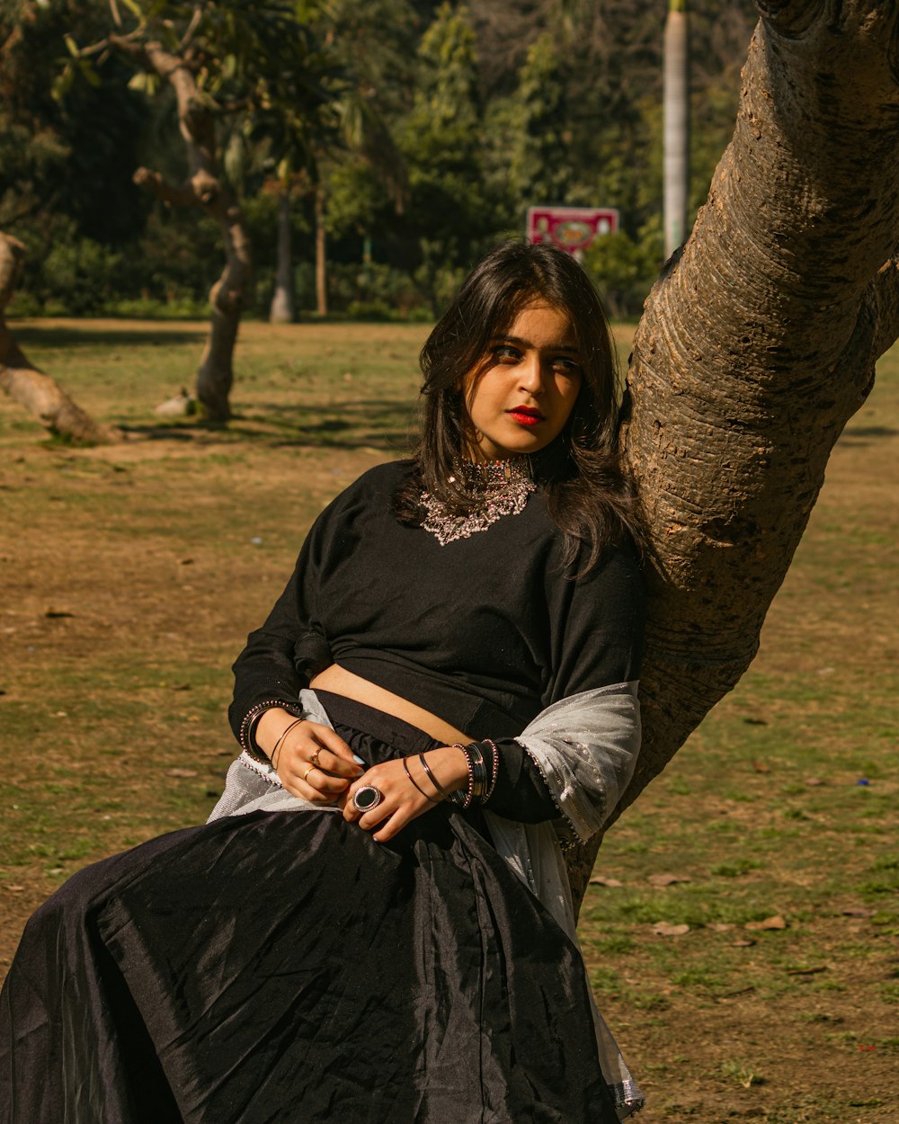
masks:
<path fill-rule="evenodd" d="M 456 481 L 471 500 L 470 509 L 463 515 L 447 510 L 443 500 L 430 492 L 421 492 L 421 506 L 427 511 L 421 526 L 434 535 L 441 546 L 487 531 L 506 515 L 520 515 L 528 496 L 537 487 L 530 478 L 530 460 L 527 456 L 480 464 L 465 462 L 457 466 L 455 475 L 450 477 L 450 483 Z"/>

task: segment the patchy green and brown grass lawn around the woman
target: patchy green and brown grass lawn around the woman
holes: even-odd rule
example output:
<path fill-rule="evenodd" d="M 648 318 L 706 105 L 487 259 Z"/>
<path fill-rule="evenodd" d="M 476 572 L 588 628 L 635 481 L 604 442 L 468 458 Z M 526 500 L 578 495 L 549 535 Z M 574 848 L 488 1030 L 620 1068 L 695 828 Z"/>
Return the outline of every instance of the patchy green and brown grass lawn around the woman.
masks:
<path fill-rule="evenodd" d="M 130 439 L 75 450 L 0 399 L 3 967 L 67 874 L 205 818 L 229 664 L 318 510 L 407 447 L 426 332 L 246 325 L 223 429 L 153 415 L 203 325 L 15 327 Z M 642 1124 L 899 1117 L 898 477 L 899 348 L 756 662 L 600 852 L 581 934 Z"/>

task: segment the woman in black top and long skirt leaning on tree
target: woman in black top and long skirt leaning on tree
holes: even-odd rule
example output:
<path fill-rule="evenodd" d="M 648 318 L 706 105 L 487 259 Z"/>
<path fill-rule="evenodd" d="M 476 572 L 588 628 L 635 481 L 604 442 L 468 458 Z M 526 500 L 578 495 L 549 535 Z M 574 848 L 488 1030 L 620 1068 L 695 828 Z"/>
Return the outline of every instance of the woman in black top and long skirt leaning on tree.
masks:
<path fill-rule="evenodd" d="M 634 767 L 643 586 L 585 274 L 507 244 L 421 354 L 416 455 L 323 513 L 235 663 L 207 826 L 75 876 L 3 994 L 35 1122 L 612 1124 L 560 846 Z"/>

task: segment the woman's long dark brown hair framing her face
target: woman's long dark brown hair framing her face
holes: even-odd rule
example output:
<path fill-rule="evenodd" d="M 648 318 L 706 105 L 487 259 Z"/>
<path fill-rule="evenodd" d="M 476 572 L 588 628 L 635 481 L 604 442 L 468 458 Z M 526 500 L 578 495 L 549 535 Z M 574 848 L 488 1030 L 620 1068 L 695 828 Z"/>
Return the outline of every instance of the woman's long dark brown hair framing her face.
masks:
<path fill-rule="evenodd" d="M 626 531 L 636 536 L 636 517 L 617 454 L 617 368 L 606 312 L 578 262 L 552 246 L 496 246 L 428 336 L 419 356 L 424 383 L 415 468 L 397 493 L 394 511 L 402 523 L 420 525 L 423 490 L 451 510 L 466 509 L 470 498 L 450 479 L 470 438 L 461 380 L 490 366 L 491 344 L 535 300 L 571 320 L 581 389 L 560 437 L 532 456 L 534 474 L 551 517 L 565 533 L 565 563 L 585 542 L 589 569 L 603 546 L 620 541 Z"/>

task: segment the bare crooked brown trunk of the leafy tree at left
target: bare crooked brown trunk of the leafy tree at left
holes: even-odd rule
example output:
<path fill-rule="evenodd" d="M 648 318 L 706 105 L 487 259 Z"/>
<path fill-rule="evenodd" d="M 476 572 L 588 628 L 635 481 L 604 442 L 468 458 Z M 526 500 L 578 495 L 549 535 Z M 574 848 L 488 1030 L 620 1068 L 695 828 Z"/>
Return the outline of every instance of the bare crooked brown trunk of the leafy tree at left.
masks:
<path fill-rule="evenodd" d="M 209 292 L 212 305 L 209 337 L 197 370 L 197 398 L 214 422 L 230 416 L 228 395 L 234 382 L 234 345 L 240 325 L 251 273 L 251 245 L 237 200 L 218 174 L 216 117 L 197 88 L 189 63 L 161 43 L 142 43 L 109 36 L 109 44 L 144 71 L 158 74 L 172 87 L 178 124 L 188 151 L 188 178 L 167 183 L 158 172 L 140 167 L 135 182 L 176 207 L 201 207 L 219 225 L 225 244 L 225 269 Z"/>

